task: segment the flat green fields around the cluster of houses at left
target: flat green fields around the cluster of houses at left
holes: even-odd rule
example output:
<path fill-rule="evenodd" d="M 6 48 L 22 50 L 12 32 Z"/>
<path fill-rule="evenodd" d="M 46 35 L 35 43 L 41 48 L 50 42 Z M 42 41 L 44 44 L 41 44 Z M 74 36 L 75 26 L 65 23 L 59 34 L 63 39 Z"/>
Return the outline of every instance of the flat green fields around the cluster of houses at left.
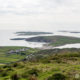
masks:
<path fill-rule="evenodd" d="M 30 48 L 24 52 L 20 52 L 19 54 L 8 54 L 10 50 L 18 50 L 23 48 L 26 47 L 0 47 L 0 63 L 4 64 L 19 61 L 21 59 L 24 59 L 30 53 L 36 51 L 35 49 Z"/>

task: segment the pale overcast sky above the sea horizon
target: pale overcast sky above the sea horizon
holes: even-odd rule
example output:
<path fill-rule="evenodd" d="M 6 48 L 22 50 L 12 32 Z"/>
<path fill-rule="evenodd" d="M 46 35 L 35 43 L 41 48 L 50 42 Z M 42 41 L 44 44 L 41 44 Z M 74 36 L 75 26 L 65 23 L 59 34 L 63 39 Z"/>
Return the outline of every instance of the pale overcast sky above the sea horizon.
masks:
<path fill-rule="evenodd" d="M 0 30 L 80 30 L 80 0 L 0 0 Z"/>

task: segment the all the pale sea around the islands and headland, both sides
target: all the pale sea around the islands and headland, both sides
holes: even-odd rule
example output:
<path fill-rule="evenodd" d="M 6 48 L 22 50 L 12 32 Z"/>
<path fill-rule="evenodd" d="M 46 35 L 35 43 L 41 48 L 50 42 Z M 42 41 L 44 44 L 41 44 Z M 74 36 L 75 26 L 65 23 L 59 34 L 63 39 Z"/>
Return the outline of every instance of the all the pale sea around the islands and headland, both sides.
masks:
<path fill-rule="evenodd" d="M 0 30 L 0 46 L 27 46 L 27 47 L 42 47 L 45 43 L 37 43 L 37 42 L 27 42 L 24 40 L 10 40 L 11 38 L 29 38 L 29 37 L 36 37 L 33 36 L 17 36 L 14 34 L 17 31 L 12 30 Z M 57 32 L 54 31 L 53 35 L 64 35 L 64 36 L 73 36 L 73 37 L 80 37 L 80 34 L 76 33 L 63 33 L 63 32 Z M 44 36 L 44 35 L 38 35 L 38 36 Z M 60 46 L 57 48 L 80 48 L 80 44 L 67 44 L 64 46 Z"/>

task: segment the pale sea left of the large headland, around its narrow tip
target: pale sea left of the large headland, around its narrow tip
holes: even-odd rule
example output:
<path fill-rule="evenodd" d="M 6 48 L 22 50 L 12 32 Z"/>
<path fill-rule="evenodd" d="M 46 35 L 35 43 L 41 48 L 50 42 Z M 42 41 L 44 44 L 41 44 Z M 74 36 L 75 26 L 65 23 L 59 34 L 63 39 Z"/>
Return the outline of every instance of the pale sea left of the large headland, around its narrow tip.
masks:
<path fill-rule="evenodd" d="M 0 46 L 27 46 L 27 47 L 42 47 L 45 43 L 37 43 L 37 42 L 27 42 L 24 40 L 10 40 L 12 38 L 30 38 L 36 37 L 33 36 L 17 36 L 15 34 L 16 31 L 10 30 L 1 30 L 0 31 Z M 40 36 L 40 35 L 39 35 Z"/>

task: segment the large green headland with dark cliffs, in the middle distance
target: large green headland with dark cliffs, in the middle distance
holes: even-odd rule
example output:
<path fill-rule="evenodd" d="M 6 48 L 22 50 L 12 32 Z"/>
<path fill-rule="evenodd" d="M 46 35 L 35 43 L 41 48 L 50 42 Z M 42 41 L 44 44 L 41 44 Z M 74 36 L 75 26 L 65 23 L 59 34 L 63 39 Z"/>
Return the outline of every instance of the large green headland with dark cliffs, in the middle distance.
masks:
<path fill-rule="evenodd" d="M 28 38 L 26 41 L 30 42 L 46 42 L 51 46 L 62 46 L 65 44 L 80 43 L 80 38 L 68 36 L 39 36 Z"/>

